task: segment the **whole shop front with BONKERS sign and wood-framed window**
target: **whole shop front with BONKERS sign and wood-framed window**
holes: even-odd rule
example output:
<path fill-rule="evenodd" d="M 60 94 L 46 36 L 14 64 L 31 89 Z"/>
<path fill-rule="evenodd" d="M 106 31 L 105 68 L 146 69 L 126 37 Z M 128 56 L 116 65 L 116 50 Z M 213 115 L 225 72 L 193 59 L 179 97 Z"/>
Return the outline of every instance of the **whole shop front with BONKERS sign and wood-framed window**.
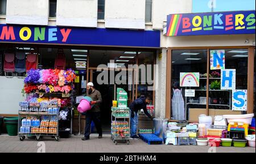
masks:
<path fill-rule="evenodd" d="M 171 14 L 166 117 L 255 114 L 255 11 Z"/>

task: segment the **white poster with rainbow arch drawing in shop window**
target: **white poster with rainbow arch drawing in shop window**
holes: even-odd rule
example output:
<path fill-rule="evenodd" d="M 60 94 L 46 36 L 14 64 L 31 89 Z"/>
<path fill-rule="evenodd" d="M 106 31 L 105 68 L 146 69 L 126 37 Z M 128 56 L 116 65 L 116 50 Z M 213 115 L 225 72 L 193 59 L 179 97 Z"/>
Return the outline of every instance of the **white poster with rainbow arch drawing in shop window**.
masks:
<path fill-rule="evenodd" d="M 180 72 L 180 87 L 199 87 L 199 72 Z"/>

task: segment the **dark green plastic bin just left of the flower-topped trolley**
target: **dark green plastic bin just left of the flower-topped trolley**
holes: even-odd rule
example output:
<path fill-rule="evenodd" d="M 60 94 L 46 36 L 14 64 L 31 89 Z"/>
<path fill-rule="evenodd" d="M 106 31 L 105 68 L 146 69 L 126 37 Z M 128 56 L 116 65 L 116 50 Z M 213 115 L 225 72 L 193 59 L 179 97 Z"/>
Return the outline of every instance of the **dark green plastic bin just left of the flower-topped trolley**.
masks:
<path fill-rule="evenodd" d="M 3 119 L 6 125 L 6 130 L 9 136 L 18 135 L 18 117 L 6 117 Z"/>

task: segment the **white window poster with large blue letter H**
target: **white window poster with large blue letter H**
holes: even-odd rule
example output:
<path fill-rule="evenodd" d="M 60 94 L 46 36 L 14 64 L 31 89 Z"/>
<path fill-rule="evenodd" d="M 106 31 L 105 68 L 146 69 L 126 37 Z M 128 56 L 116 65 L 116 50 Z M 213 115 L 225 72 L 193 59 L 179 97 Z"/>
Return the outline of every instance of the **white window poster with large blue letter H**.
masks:
<path fill-rule="evenodd" d="M 221 89 L 224 89 L 224 90 L 236 89 L 236 70 L 235 69 L 221 70 Z"/>

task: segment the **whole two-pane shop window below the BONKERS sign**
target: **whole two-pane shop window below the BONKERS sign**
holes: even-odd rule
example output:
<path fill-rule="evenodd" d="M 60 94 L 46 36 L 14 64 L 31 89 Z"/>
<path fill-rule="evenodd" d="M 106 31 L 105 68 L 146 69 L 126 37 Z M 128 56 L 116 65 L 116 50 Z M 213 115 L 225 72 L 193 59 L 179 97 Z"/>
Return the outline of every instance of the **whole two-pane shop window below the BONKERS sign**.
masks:
<path fill-rule="evenodd" d="M 214 54 L 218 54 L 218 58 L 214 59 Z M 171 107 L 173 119 L 197 121 L 200 114 L 208 113 L 214 116 L 220 113 L 220 115 L 230 114 L 230 110 L 238 110 L 233 106 L 234 98 L 232 96 L 234 90 L 246 93 L 248 50 L 210 49 L 208 58 L 209 61 L 207 61 L 207 50 L 172 50 Z M 224 65 L 218 64 L 222 61 Z M 207 63 L 209 63 L 209 74 L 207 73 Z M 225 81 L 228 85 L 225 85 L 226 87 L 221 83 L 221 79 L 224 77 L 224 72 L 221 71 L 225 72 Z M 189 75 L 191 73 L 194 75 Z M 199 84 L 195 87 L 193 81 L 196 81 L 198 75 Z M 209 85 L 207 85 L 208 79 Z M 186 89 L 191 90 L 185 91 Z M 189 94 L 189 96 L 185 96 L 185 94 Z M 247 101 L 246 98 L 245 96 L 244 102 Z M 208 107 L 206 106 L 207 102 Z M 237 104 L 240 102 L 243 104 L 242 101 Z M 238 113 L 246 113 L 246 111 L 241 112 L 239 109 Z"/>

